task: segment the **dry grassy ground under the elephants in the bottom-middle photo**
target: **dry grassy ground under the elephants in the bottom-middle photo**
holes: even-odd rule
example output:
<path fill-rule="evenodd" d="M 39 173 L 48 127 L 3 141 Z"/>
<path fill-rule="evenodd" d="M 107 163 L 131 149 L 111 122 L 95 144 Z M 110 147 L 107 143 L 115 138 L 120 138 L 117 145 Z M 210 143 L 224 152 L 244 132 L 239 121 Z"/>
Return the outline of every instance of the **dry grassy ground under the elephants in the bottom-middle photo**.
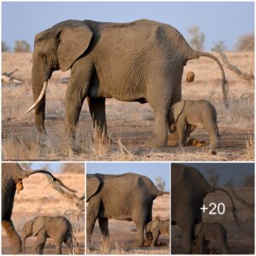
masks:
<path fill-rule="evenodd" d="M 170 195 L 163 195 L 154 200 L 153 218 L 160 216 L 161 219 L 170 219 Z M 136 240 L 136 225 L 133 222 L 109 219 L 109 242 L 102 242 L 100 229 L 96 224 L 92 246 L 95 251 L 87 249 L 90 254 L 169 254 L 170 237 L 160 235 L 158 242 L 162 245 L 150 249 L 149 247 L 134 247 Z"/>

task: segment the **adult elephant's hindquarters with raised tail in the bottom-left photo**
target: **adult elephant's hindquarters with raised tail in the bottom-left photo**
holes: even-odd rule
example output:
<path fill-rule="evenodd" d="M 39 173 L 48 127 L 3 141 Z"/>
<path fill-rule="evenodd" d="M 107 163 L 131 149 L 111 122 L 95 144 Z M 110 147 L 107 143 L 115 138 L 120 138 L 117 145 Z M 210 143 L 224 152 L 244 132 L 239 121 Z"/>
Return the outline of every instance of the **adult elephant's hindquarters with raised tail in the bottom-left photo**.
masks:
<path fill-rule="evenodd" d="M 22 252 L 20 236 L 16 232 L 11 219 L 15 201 L 16 186 L 19 186 L 19 188 L 22 189 L 22 179 L 36 173 L 48 174 L 52 177 L 55 183 L 61 185 L 65 189 L 68 189 L 60 179 L 54 177 L 50 172 L 44 170 L 25 171 L 15 163 L 2 164 L 2 225 L 9 237 L 11 252 L 13 254 Z M 72 189 L 68 190 L 74 192 Z"/>

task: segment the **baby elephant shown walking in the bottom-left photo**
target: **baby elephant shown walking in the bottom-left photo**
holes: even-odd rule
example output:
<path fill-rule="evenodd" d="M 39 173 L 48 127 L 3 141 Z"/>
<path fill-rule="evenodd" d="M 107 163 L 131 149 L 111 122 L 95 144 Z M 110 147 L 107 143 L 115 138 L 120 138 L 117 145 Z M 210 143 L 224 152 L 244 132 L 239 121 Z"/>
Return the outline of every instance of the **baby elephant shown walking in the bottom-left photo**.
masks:
<path fill-rule="evenodd" d="M 38 216 L 28 221 L 21 231 L 23 253 L 26 247 L 26 238 L 37 236 L 33 245 L 34 254 L 43 254 L 46 239 L 55 241 L 56 254 L 61 254 L 61 244 L 64 242 L 73 254 L 73 230 L 69 220 L 63 216 Z"/>

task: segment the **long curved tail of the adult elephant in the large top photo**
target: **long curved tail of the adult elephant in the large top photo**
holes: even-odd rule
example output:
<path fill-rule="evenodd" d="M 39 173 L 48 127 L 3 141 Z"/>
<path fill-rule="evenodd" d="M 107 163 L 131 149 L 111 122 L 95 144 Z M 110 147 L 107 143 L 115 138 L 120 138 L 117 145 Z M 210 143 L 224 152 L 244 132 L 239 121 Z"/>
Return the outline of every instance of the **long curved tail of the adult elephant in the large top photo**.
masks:
<path fill-rule="evenodd" d="M 224 96 L 224 106 L 226 108 L 229 108 L 229 101 L 228 101 L 228 91 L 229 91 L 229 82 L 227 81 L 224 73 L 224 68 L 221 65 L 220 61 L 218 61 L 218 58 L 210 53 L 204 52 L 204 51 L 198 51 L 198 50 L 192 50 L 190 51 L 189 56 L 187 56 L 188 60 L 194 60 L 199 59 L 200 57 L 208 57 L 211 58 L 213 61 L 217 62 L 218 67 L 220 68 L 220 71 L 222 73 L 222 93 Z"/>

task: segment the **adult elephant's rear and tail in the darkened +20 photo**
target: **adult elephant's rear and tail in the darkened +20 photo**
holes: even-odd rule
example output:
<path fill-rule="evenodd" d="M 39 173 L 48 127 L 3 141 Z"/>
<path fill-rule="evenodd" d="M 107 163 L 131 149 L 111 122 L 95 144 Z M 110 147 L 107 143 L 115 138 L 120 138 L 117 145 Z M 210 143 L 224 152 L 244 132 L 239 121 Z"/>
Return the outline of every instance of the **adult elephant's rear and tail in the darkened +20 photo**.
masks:
<path fill-rule="evenodd" d="M 204 197 L 218 190 L 229 196 L 232 214 L 239 227 L 234 201 L 226 189 L 210 185 L 201 172 L 191 166 L 172 164 L 172 224 L 177 224 L 182 231 L 181 253 L 191 253 L 195 225 L 201 223 L 200 208 Z"/>

